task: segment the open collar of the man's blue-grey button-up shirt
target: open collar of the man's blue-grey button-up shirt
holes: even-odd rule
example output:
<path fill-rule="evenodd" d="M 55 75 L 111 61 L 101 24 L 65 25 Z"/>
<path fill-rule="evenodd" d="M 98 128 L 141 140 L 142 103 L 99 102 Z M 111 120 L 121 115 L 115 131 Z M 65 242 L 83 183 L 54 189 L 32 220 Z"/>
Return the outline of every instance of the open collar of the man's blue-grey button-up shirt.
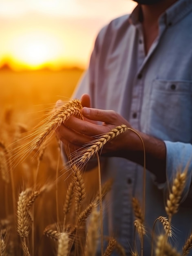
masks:
<path fill-rule="evenodd" d="M 166 26 L 173 25 L 183 19 L 190 11 L 192 11 L 192 0 L 178 0 L 161 14 L 159 22 L 165 23 Z M 140 4 L 130 14 L 129 21 L 133 25 L 141 23 L 142 13 Z"/>

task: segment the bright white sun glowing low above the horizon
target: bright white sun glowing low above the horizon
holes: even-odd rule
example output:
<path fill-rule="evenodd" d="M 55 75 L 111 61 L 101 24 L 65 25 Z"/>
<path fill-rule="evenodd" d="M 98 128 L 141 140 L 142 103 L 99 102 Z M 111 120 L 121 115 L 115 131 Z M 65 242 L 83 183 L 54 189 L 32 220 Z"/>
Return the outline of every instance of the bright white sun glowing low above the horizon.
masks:
<path fill-rule="evenodd" d="M 38 69 L 56 61 L 60 49 L 60 42 L 53 35 L 40 32 L 23 34 L 14 43 L 13 59 L 19 65 Z"/>

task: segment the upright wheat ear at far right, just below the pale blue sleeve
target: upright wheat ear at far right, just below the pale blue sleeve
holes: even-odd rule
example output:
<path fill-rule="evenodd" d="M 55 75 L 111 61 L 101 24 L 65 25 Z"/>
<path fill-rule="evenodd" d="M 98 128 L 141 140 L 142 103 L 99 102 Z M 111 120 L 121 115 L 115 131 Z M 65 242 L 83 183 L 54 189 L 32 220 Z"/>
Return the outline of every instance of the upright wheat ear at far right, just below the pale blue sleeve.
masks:
<path fill-rule="evenodd" d="M 177 213 L 178 211 L 179 202 L 185 187 L 186 179 L 187 172 L 184 171 L 183 173 L 178 172 L 173 181 L 171 193 L 169 194 L 166 206 L 166 213 L 169 216 L 169 222 L 171 222 L 173 214 Z"/>

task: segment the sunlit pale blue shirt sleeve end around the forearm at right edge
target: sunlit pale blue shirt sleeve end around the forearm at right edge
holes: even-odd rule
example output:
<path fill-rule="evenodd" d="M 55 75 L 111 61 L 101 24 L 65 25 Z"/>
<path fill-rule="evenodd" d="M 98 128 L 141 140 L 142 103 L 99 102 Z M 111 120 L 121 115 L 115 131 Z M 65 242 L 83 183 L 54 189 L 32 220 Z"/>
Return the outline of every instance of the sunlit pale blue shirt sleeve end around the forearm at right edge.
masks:
<path fill-rule="evenodd" d="M 182 142 L 164 141 L 166 144 L 166 175 L 168 184 L 178 171 L 187 171 L 187 180 L 183 191 L 183 202 L 188 196 L 191 197 L 192 178 L 192 144 Z"/>

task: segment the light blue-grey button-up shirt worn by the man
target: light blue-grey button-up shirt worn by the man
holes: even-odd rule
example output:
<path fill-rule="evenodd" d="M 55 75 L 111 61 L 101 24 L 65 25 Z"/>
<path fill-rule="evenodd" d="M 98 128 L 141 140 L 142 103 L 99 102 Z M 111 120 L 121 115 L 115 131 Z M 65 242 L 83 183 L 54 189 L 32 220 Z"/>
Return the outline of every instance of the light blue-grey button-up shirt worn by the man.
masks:
<path fill-rule="evenodd" d="M 184 202 L 172 218 L 175 235 L 170 243 L 181 251 L 192 231 L 192 0 L 178 0 L 161 15 L 159 34 L 147 55 L 138 17 L 139 6 L 100 31 L 73 98 L 88 93 L 92 107 L 115 110 L 133 128 L 165 141 L 167 183 L 158 184 L 149 171 L 146 177 L 144 255 L 149 256 L 153 223 L 166 216 L 163 188 L 187 165 Z M 102 179 L 109 177 L 115 182 L 104 203 L 104 234 L 113 234 L 130 255 L 134 240 L 131 199 L 137 197 L 142 204 L 143 168 L 126 159 L 108 158 Z M 159 234 L 162 229 L 157 226 Z"/>

